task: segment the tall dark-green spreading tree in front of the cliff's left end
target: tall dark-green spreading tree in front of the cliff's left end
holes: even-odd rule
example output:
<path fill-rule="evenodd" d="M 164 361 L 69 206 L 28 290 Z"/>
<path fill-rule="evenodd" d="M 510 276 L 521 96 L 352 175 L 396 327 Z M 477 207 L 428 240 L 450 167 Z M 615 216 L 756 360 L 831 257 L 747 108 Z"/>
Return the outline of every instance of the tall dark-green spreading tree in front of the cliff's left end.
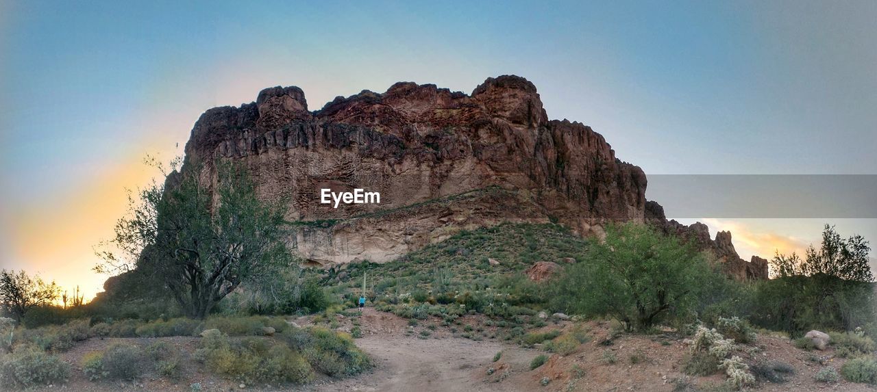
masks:
<path fill-rule="evenodd" d="M 289 265 L 285 204 L 255 191 L 239 165 L 187 163 L 132 200 L 111 241 L 129 259 L 103 252 L 98 269 L 130 269 L 135 260 L 136 272 L 168 290 L 186 316 L 204 318 L 241 283 Z"/>

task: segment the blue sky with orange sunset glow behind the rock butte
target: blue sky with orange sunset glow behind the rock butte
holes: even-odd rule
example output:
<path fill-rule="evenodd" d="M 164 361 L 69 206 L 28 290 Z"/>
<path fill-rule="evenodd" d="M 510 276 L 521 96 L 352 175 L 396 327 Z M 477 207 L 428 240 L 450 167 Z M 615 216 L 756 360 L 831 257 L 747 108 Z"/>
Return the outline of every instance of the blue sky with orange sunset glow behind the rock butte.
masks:
<path fill-rule="evenodd" d="M 0 0 L 0 267 L 89 297 L 146 154 L 277 85 L 319 109 L 513 73 L 647 174 L 877 174 L 877 2 L 122 3 Z M 877 241 L 873 216 L 804 218 L 681 221 L 731 229 L 745 258 L 826 222 Z"/>

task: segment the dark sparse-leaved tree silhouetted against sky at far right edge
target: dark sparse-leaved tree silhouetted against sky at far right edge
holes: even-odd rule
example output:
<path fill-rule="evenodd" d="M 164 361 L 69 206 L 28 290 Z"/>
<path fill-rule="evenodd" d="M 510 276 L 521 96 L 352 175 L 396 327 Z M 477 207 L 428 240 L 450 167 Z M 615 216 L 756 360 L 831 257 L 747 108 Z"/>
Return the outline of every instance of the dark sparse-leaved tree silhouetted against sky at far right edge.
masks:
<path fill-rule="evenodd" d="M 861 235 L 843 239 L 834 226 L 826 224 L 819 249 L 811 244 L 803 260 L 795 253 L 777 253 L 771 260 L 771 272 L 774 277 L 824 274 L 848 281 L 873 282 L 874 276 L 868 265 L 870 251 L 868 242 Z"/>

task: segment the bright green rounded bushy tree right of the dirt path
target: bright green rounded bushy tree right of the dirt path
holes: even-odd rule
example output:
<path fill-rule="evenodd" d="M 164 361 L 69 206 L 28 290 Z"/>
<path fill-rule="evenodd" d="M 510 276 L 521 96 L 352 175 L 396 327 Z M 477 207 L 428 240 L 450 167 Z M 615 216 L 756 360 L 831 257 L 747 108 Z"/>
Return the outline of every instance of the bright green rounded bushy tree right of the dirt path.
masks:
<path fill-rule="evenodd" d="M 588 259 L 567 267 L 554 285 L 557 309 L 609 315 L 625 329 L 645 330 L 688 316 L 713 274 L 701 252 L 674 236 L 636 223 L 610 225 Z"/>

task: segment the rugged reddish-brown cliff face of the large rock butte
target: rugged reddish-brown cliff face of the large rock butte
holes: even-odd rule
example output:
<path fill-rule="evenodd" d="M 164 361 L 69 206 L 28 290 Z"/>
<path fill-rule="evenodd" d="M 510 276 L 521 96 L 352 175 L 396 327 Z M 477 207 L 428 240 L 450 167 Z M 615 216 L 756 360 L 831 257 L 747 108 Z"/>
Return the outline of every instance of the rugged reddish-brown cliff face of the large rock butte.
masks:
<path fill-rule="evenodd" d="M 260 197 L 289 200 L 289 239 L 310 262 L 387 261 L 463 228 L 559 221 L 600 235 L 645 219 L 645 173 L 581 123 L 549 121 L 535 86 L 489 78 L 471 95 L 396 83 L 309 111 L 300 88 L 210 109 L 186 160 L 246 165 Z M 364 188 L 381 203 L 320 204 L 321 188 Z M 332 220 L 332 221 L 324 221 Z"/>

